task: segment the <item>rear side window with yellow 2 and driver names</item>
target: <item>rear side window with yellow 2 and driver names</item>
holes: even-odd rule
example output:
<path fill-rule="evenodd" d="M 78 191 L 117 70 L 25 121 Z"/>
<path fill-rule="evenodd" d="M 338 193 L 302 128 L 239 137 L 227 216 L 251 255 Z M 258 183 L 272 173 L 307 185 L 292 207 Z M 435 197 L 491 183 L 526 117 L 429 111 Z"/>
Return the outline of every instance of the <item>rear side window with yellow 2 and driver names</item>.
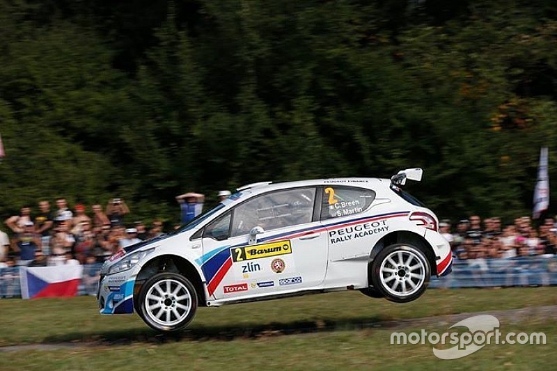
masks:
<path fill-rule="evenodd" d="M 324 187 L 321 220 L 364 212 L 375 200 L 375 191 L 354 187 Z"/>

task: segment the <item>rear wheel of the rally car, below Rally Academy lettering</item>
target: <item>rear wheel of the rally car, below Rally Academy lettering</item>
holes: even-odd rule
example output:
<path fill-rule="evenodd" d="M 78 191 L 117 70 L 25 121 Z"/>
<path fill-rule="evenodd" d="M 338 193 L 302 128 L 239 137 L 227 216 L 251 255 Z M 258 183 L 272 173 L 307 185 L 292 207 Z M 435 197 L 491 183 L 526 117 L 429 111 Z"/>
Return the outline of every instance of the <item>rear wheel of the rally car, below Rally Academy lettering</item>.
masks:
<path fill-rule="evenodd" d="M 387 300 L 397 303 L 408 303 L 421 297 L 430 276 L 431 267 L 425 253 L 409 244 L 387 246 L 372 262 L 373 287 Z"/>

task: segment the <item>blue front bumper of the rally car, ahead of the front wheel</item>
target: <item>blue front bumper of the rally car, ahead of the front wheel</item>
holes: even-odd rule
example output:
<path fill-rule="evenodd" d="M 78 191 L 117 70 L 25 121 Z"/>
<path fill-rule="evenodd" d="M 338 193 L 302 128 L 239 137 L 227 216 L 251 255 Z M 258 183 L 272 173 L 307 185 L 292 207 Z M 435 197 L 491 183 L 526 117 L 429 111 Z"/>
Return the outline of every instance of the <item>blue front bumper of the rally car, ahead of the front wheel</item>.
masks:
<path fill-rule="evenodd" d="M 97 287 L 97 303 L 102 315 L 134 313 L 135 275 L 101 275 Z"/>

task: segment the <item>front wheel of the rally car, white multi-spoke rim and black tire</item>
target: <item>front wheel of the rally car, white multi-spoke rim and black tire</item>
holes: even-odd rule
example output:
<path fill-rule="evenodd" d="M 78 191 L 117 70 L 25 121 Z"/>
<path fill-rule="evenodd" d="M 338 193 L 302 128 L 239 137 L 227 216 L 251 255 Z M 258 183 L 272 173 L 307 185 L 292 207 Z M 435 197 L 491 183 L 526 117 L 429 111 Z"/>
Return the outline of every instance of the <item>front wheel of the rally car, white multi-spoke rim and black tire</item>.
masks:
<path fill-rule="evenodd" d="M 180 274 L 155 274 L 141 287 L 137 307 L 139 317 L 152 329 L 178 331 L 196 314 L 196 289 Z"/>

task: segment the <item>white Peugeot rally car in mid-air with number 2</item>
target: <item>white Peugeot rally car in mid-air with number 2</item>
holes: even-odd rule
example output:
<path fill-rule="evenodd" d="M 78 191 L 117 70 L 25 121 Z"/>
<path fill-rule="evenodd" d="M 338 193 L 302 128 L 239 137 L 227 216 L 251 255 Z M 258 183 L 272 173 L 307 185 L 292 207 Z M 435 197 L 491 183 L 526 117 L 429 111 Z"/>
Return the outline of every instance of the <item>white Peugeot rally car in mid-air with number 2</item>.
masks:
<path fill-rule="evenodd" d="M 100 313 L 135 310 L 153 329 L 176 331 L 198 306 L 336 290 L 415 300 L 452 264 L 435 214 L 399 188 L 421 175 L 241 187 L 180 230 L 105 262 Z"/>

